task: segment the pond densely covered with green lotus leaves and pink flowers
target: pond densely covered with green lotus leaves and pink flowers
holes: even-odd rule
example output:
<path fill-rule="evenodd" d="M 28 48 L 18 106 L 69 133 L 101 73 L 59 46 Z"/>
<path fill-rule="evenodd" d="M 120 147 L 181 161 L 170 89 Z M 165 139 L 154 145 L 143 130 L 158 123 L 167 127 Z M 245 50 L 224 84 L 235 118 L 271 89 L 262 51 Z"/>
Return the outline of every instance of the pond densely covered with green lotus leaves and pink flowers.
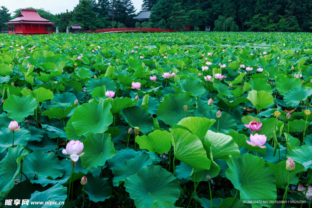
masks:
<path fill-rule="evenodd" d="M 0 206 L 310 207 L 311 40 L 0 34 Z"/>

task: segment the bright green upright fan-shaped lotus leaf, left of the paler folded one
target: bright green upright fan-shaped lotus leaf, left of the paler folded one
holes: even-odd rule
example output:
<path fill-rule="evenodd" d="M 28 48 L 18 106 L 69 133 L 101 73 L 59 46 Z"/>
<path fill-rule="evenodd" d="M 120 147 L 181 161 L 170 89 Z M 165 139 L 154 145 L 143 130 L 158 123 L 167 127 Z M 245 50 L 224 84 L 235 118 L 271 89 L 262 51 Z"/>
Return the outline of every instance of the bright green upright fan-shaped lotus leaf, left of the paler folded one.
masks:
<path fill-rule="evenodd" d="M 211 160 L 197 136 L 181 128 L 170 129 L 170 133 L 176 159 L 192 166 L 197 172 L 209 170 Z"/>

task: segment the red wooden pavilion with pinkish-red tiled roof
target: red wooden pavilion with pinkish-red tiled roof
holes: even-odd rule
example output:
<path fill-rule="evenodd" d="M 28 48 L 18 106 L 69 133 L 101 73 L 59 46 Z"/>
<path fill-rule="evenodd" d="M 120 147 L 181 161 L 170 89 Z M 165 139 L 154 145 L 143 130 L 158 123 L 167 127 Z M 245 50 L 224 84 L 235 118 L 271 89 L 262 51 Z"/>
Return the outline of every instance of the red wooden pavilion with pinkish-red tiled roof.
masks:
<path fill-rule="evenodd" d="M 15 19 L 4 24 L 7 24 L 9 34 L 34 35 L 53 34 L 52 29 L 55 23 L 40 17 L 36 9 L 21 9 Z"/>

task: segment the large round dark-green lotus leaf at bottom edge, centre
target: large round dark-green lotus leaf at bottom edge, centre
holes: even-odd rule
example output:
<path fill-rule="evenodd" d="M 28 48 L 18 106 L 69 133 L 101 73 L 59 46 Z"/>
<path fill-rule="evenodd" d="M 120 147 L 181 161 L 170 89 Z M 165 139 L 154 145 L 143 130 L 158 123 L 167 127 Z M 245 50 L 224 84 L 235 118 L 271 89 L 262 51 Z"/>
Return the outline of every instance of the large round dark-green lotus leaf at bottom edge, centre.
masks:
<path fill-rule="evenodd" d="M 180 197 L 178 181 L 161 166 L 149 165 L 124 181 L 137 208 L 151 207 L 154 201 L 175 203 Z"/>

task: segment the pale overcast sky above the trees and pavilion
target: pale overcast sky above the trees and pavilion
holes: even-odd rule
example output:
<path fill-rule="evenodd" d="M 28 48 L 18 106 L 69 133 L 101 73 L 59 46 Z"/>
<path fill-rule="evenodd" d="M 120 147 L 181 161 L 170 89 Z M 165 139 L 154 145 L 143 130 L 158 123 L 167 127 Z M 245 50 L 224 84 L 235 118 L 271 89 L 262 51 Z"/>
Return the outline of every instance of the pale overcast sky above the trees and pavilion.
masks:
<path fill-rule="evenodd" d="M 132 0 L 136 12 L 139 12 L 143 0 Z M 73 8 L 79 3 L 79 0 L 0 0 L 0 6 L 5 6 L 10 12 L 16 9 L 33 7 L 44 8 L 49 10 L 52 14 L 61 12 L 72 11 Z"/>

